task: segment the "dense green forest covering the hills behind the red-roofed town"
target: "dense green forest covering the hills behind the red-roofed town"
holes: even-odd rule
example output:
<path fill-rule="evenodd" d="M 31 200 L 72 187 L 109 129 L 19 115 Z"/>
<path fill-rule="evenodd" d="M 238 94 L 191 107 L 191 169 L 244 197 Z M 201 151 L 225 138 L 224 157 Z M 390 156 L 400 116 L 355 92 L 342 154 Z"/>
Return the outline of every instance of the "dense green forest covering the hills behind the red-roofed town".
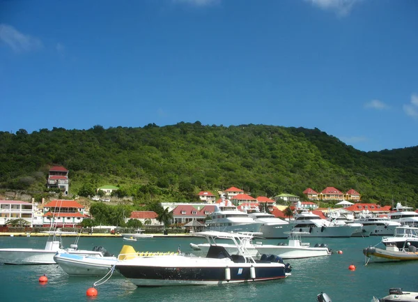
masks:
<path fill-rule="evenodd" d="M 240 125 L 0 132 L 0 189 L 45 192 L 49 167 L 63 165 L 70 194 L 113 185 L 147 202 L 195 202 L 200 190 L 235 186 L 252 196 L 308 187 L 353 188 L 365 202 L 418 206 L 418 146 L 363 152 L 317 128 Z"/>

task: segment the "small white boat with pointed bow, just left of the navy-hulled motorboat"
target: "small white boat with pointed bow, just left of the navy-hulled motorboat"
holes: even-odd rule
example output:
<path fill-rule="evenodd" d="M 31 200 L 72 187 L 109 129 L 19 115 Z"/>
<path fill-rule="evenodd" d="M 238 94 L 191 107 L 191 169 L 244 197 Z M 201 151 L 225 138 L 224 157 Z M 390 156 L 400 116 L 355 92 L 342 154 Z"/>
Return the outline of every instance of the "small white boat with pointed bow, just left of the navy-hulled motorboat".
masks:
<path fill-rule="evenodd" d="M 93 248 L 100 250 L 96 255 L 77 255 L 68 252 L 57 252 L 54 262 L 68 275 L 106 275 L 118 260 L 101 246 Z"/>

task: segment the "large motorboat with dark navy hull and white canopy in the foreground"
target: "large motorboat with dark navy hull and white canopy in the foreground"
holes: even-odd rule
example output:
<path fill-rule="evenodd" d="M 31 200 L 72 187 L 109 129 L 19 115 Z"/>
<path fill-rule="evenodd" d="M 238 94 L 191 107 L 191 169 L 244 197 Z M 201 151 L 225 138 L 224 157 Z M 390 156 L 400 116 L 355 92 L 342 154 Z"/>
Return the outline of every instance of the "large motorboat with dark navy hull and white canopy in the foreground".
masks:
<path fill-rule="evenodd" d="M 240 247 L 237 239 L 245 234 L 196 232 L 192 236 L 229 239 L 241 249 L 241 255 L 230 255 L 223 246 L 212 244 L 206 257 L 178 253 L 175 255 L 140 257 L 132 253 L 118 256 L 115 268 L 134 285 L 223 285 L 286 278 L 291 266 L 277 256 L 256 260 Z M 132 247 L 131 247 L 132 248 Z M 133 248 L 132 248 L 133 250 Z M 264 257 L 267 258 L 267 257 Z"/>

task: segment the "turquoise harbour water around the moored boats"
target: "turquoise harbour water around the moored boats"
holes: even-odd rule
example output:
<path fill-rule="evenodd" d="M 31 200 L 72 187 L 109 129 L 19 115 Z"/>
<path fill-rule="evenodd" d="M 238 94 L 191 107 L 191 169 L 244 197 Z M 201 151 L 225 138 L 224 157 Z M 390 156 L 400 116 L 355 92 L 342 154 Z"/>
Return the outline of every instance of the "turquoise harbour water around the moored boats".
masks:
<path fill-rule="evenodd" d="M 0 237 L 0 248 L 43 248 L 46 238 Z M 74 239 L 63 238 L 64 246 Z M 257 240 L 261 241 L 261 240 Z M 262 240 L 276 244 L 286 240 Z M 316 295 L 326 292 L 333 302 L 367 301 L 372 296 L 381 298 L 389 287 L 402 287 L 418 292 L 418 262 L 369 263 L 364 266 L 362 249 L 375 246 L 380 237 L 304 239 L 305 242 L 327 243 L 332 250 L 343 254 L 311 259 L 288 259 L 293 266 L 292 275 L 284 280 L 251 282 L 226 286 L 151 287 L 139 288 L 123 277 L 113 276 L 97 287 L 95 299 L 86 296 L 86 290 L 100 278 L 69 277 L 58 265 L 15 266 L 0 264 L 0 301 L 316 301 Z M 152 238 L 131 242 L 138 251 L 192 252 L 189 243 L 201 243 L 197 238 Z M 81 238 L 79 248 L 91 250 L 103 246 L 118 254 L 121 238 Z M 356 271 L 348 270 L 354 264 Z M 47 275 L 49 281 L 40 285 L 38 278 Z"/>

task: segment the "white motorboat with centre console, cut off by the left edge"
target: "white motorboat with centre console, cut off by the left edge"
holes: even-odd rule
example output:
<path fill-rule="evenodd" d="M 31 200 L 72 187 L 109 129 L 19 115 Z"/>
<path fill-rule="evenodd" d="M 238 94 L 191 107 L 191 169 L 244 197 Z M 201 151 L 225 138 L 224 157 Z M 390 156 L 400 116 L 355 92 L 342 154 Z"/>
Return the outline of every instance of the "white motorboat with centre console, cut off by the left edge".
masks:
<path fill-rule="evenodd" d="M 77 237 L 70 248 L 63 248 L 60 233 L 51 233 L 45 248 L 0 248 L 0 263 L 3 264 L 55 264 L 54 255 L 57 252 L 68 252 L 73 255 L 98 255 L 99 250 L 79 250 Z"/>

